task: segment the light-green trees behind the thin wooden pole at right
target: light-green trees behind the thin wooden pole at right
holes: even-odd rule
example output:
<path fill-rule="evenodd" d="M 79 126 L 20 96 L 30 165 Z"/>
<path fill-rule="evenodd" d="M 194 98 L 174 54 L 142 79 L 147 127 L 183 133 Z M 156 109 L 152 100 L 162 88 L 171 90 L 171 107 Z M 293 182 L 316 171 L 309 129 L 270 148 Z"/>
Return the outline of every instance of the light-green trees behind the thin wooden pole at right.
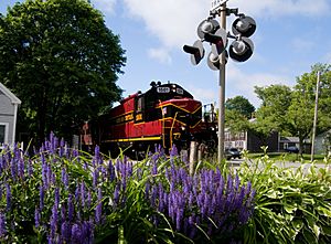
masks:
<path fill-rule="evenodd" d="M 256 123 L 252 129 L 268 136 L 273 130 L 296 136 L 302 152 L 303 139 L 312 132 L 314 116 L 317 72 L 321 72 L 318 103 L 318 131 L 331 128 L 331 72 L 328 64 L 316 64 L 311 72 L 297 77 L 293 88 L 285 85 L 255 87 L 263 104 L 256 112 Z"/>

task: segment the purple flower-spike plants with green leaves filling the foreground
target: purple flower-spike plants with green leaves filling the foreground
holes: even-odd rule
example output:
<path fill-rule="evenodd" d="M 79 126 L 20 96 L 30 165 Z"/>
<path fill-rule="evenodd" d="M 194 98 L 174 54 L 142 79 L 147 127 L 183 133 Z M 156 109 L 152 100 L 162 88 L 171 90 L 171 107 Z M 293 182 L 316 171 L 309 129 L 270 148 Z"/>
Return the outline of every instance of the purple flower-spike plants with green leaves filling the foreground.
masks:
<path fill-rule="evenodd" d="M 162 151 L 132 162 L 68 149 L 54 135 L 29 157 L 0 153 L 0 240 L 7 243 L 241 241 L 250 183 Z"/>

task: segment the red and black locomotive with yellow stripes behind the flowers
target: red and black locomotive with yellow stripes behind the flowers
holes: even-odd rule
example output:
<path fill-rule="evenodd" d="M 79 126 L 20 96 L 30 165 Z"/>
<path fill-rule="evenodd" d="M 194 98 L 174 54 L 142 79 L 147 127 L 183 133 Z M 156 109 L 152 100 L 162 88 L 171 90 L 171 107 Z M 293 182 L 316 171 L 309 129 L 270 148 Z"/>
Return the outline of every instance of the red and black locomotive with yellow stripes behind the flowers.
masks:
<path fill-rule="evenodd" d="M 201 102 L 178 84 L 150 85 L 146 93 L 130 95 L 107 114 L 86 123 L 82 131 L 85 149 L 99 145 L 116 156 L 119 147 L 142 152 L 152 151 L 156 145 L 168 150 L 173 145 L 186 148 L 191 140 L 216 141 L 214 124 L 203 119 Z"/>

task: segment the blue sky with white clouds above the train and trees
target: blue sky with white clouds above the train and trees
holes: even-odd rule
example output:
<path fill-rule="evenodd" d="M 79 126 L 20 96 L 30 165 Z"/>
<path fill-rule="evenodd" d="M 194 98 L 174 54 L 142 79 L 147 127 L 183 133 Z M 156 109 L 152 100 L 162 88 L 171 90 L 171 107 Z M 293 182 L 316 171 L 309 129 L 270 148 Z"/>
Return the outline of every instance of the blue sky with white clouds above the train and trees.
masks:
<path fill-rule="evenodd" d="M 1 0 L 0 11 L 15 0 Z M 209 17 L 212 0 L 92 0 L 107 26 L 120 36 L 127 65 L 118 85 L 124 96 L 147 91 L 151 81 L 175 82 L 203 103 L 217 102 L 218 72 L 206 57 L 193 66 L 182 51 L 197 40 L 196 26 Z M 254 86 L 285 84 L 331 63 L 330 0 L 229 0 L 228 8 L 255 19 L 253 56 L 226 64 L 226 98 L 242 95 L 258 107 Z M 234 17 L 227 18 L 227 30 Z M 210 47 L 205 45 L 206 53 Z"/>

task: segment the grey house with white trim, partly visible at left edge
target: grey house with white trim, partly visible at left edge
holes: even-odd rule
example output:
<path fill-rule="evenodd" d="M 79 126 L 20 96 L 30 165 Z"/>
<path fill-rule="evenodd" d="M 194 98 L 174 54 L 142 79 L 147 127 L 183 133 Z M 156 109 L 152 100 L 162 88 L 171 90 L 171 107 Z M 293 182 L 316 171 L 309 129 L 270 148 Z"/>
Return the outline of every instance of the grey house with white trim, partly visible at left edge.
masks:
<path fill-rule="evenodd" d="M 17 115 L 21 100 L 0 83 L 0 147 L 15 141 Z"/>

